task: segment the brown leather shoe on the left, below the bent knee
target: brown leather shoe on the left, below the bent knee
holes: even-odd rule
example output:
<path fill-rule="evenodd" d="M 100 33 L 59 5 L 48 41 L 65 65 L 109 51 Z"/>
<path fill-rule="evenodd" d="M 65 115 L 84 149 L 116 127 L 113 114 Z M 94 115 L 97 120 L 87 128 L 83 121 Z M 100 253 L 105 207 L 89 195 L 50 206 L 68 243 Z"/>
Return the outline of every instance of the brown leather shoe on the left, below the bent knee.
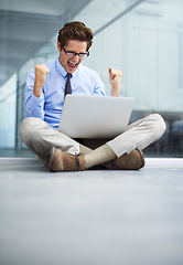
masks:
<path fill-rule="evenodd" d="M 84 156 L 73 156 L 53 148 L 49 168 L 52 172 L 80 171 L 85 169 L 85 159 Z"/>

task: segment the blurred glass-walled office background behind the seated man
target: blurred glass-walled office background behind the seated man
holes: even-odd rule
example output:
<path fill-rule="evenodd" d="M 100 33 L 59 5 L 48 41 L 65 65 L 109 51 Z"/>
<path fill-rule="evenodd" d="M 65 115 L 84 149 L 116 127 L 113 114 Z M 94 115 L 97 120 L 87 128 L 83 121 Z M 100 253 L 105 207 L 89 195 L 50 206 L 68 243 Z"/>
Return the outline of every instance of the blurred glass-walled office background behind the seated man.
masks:
<path fill-rule="evenodd" d="M 147 155 L 183 157 L 183 0 L 0 0 L 0 156 L 31 156 L 18 128 L 35 64 L 58 56 L 58 30 L 79 20 L 94 32 L 84 64 L 122 70 L 120 96 L 136 97 L 131 121 L 160 113 L 165 135 Z"/>

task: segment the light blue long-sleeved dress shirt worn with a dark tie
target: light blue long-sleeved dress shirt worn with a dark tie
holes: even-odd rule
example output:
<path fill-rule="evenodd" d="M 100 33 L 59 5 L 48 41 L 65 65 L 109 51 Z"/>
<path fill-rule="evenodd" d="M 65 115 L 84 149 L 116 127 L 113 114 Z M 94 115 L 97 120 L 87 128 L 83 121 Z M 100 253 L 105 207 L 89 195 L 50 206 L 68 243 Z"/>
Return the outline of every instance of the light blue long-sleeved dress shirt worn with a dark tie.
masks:
<path fill-rule="evenodd" d="M 43 86 L 42 96 L 33 94 L 35 73 L 32 70 L 25 86 L 25 117 L 37 117 L 47 121 L 54 129 L 58 128 L 64 105 L 66 71 L 58 59 L 46 63 L 50 72 Z M 71 77 L 73 95 L 105 96 L 105 86 L 97 72 L 79 65 Z"/>

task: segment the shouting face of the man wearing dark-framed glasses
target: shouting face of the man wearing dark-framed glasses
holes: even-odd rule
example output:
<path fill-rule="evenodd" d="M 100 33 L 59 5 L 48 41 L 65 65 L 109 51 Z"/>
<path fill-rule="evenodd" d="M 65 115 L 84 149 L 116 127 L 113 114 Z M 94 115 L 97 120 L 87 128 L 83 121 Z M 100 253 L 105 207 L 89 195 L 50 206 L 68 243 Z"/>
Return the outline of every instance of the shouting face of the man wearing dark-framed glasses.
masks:
<path fill-rule="evenodd" d="M 69 40 L 64 49 L 66 52 L 86 53 L 87 42 Z M 65 53 L 64 49 L 61 49 L 61 43 L 57 42 L 57 50 L 60 51 L 60 63 L 67 73 L 72 74 L 76 71 L 83 59 L 78 55 L 69 57 L 69 55 Z"/>

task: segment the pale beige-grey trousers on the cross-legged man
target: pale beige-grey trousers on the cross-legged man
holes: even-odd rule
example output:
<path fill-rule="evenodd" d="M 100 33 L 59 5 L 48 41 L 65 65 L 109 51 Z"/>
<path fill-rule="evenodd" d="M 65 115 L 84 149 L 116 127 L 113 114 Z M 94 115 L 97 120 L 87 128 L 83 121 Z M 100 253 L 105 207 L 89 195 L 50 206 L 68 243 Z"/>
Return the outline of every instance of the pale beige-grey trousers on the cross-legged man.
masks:
<path fill-rule="evenodd" d="M 143 150 L 150 144 L 160 139 L 165 131 L 165 123 L 159 114 L 151 114 L 127 127 L 127 130 L 114 139 L 85 140 L 83 145 L 94 149 L 107 144 L 117 157 L 129 153 L 139 148 Z M 79 142 L 53 129 L 40 118 L 25 118 L 22 120 L 19 134 L 28 148 L 33 151 L 45 166 L 49 166 L 53 147 L 72 155 L 79 153 Z"/>

